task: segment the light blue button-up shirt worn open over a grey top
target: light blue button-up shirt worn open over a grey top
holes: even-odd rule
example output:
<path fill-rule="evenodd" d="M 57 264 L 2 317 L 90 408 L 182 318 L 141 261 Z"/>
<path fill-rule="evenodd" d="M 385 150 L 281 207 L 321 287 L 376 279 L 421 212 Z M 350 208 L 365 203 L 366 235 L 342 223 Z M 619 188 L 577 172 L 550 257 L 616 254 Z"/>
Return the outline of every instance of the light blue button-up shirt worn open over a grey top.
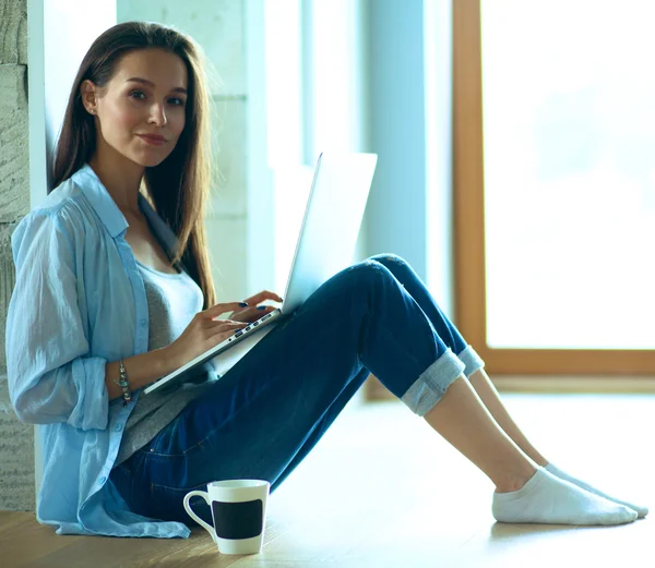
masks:
<path fill-rule="evenodd" d="M 140 196 L 164 250 L 172 231 Z M 128 222 L 85 165 L 12 234 L 16 285 L 7 319 L 7 370 L 17 416 L 40 424 L 36 517 L 58 534 L 172 537 L 180 522 L 130 512 L 108 482 L 140 391 L 109 401 L 105 365 L 147 351 L 148 310 Z"/>

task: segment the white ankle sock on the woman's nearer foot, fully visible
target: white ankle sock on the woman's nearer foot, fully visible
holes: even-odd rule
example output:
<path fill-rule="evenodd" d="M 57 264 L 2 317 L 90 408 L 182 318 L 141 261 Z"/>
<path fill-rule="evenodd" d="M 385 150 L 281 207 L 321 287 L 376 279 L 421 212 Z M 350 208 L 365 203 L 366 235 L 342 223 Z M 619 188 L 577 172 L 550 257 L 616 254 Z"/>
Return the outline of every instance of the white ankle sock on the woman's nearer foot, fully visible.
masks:
<path fill-rule="evenodd" d="M 500 522 L 545 524 L 622 524 L 636 512 L 593 495 L 544 468 L 519 491 L 495 493 L 493 518 Z"/>

